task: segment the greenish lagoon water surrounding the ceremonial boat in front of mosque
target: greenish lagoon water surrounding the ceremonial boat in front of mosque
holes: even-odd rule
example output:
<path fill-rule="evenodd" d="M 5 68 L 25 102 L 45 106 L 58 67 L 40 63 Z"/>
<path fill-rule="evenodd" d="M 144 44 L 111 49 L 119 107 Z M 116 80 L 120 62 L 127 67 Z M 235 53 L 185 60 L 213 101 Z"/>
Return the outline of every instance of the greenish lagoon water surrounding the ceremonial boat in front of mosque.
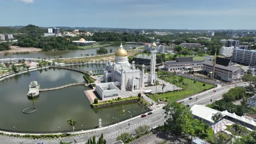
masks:
<path fill-rule="evenodd" d="M 90 68 L 92 69 L 92 68 Z M 41 88 L 83 82 L 83 75 L 63 69 L 47 69 L 21 74 L 0 81 L 0 128 L 15 131 L 66 131 L 67 119 L 74 119 L 75 129 L 95 128 L 98 118 L 103 125 L 112 124 L 146 112 L 138 103 L 127 103 L 91 109 L 84 86 L 73 86 L 56 91 L 41 92 L 34 100 L 27 99 L 28 84 L 37 80 Z M 22 112 L 34 106 L 37 111 Z M 15 128 L 13 128 L 15 127 Z"/>

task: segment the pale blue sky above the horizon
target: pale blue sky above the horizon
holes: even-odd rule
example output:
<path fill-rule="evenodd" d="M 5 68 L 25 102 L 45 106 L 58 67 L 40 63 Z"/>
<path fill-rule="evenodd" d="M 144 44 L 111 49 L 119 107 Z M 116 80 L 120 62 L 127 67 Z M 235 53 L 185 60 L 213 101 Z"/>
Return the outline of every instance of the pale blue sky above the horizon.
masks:
<path fill-rule="evenodd" d="M 0 26 L 256 29 L 255 0 L 0 0 Z"/>

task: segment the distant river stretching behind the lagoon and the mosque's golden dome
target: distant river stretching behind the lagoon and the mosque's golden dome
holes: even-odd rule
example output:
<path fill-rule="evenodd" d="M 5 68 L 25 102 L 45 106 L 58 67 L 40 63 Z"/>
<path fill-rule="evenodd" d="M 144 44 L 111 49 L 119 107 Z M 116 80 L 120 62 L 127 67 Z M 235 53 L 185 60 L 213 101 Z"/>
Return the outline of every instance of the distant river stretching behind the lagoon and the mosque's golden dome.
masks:
<path fill-rule="evenodd" d="M 142 45 L 124 45 L 124 49 L 130 49 L 130 47 L 139 47 Z M 115 52 L 115 50 L 117 50 L 119 48 L 119 46 L 109 46 L 106 47 L 106 49 L 109 51 L 112 49 L 112 52 Z M 63 50 L 63 51 L 44 51 L 44 52 L 30 52 L 28 54 L 22 54 L 22 55 L 0 55 L 0 59 L 1 58 L 59 58 L 60 56 L 62 58 L 66 58 L 66 57 L 80 57 L 81 54 L 83 56 L 86 56 L 87 54 L 89 54 L 89 56 L 91 55 L 97 55 L 97 50 L 99 48 L 96 49 L 89 49 L 89 50 Z"/>

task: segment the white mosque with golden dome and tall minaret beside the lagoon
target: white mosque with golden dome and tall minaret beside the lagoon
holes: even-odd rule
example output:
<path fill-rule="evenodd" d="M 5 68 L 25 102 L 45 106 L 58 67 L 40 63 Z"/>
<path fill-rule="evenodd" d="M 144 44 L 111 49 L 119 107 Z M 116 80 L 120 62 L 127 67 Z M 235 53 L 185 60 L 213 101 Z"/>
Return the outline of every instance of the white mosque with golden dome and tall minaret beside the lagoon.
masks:
<path fill-rule="evenodd" d="M 135 68 L 135 62 L 128 62 L 128 53 L 123 49 L 115 51 L 115 62 L 106 61 L 104 75 L 104 83 L 96 85 L 96 92 L 102 100 L 109 100 L 121 97 L 120 91 L 143 91 L 145 86 L 155 85 L 156 73 L 156 52 L 151 51 L 150 74 L 145 75 L 145 65 L 142 70 Z"/>

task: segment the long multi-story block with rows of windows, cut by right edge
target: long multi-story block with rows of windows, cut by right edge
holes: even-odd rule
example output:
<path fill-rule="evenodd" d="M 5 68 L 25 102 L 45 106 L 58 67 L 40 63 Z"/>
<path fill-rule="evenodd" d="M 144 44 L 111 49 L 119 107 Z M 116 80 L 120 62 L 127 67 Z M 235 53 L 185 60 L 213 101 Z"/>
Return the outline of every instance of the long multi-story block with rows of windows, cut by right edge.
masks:
<path fill-rule="evenodd" d="M 248 64 L 248 65 L 256 65 L 256 51 L 234 49 L 232 62 Z"/>

